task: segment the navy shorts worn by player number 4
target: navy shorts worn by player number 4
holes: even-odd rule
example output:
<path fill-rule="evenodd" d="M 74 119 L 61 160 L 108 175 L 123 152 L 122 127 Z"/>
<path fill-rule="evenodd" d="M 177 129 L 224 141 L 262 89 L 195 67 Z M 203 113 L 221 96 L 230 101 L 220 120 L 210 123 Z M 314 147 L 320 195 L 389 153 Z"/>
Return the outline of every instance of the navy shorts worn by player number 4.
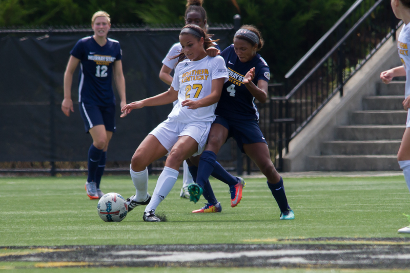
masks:
<path fill-rule="evenodd" d="M 242 153 L 245 153 L 243 144 L 263 142 L 268 145 L 262 131 L 260 131 L 257 120 L 231 120 L 216 116 L 214 123 L 221 124 L 228 129 L 228 138 L 233 137 L 236 140 Z"/>

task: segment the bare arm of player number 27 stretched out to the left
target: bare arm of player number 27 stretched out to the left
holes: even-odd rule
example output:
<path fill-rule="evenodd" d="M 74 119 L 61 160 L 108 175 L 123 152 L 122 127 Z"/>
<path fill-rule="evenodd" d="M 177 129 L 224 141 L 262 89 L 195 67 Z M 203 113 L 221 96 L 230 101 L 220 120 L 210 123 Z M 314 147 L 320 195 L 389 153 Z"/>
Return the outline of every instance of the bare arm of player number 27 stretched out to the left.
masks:
<path fill-rule="evenodd" d="M 160 106 L 174 102 L 178 99 L 178 91 L 175 91 L 174 88 L 171 86 L 166 92 L 163 92 L 159 95 L 154 97 L 146 98 L 143 100 L 138 100 L 126 104 L 124 107 L 121 108 L 121 117 L 125 117 L 128 115 L 133 109 L 140 109 L 146 106 Z"/>

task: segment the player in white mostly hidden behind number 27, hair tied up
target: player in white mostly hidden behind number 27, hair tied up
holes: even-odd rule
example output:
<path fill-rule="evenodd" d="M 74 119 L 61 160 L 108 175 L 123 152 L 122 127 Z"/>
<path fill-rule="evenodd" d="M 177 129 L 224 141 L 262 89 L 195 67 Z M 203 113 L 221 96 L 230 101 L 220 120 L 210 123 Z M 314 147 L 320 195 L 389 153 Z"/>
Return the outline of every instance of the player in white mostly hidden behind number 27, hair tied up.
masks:
<path fill-rule="evenodd" d="M 187 1 L 187 9 L 185 11 L 185 25 L 194 24 L 203 29 L 203 31 L 207 32 L 207 12 L 202 8 L 203 0 L 188 0 Z M 182 50 L 181 44 L 175 43 L 170 48 L 167 56 L 162 60 L 162 68 L 159 72 L 159 78 L 171 85 L 173 77 L 171 76 L 171 72 L 174 70 L 175 66 L 178 64 L 178 59 L 173 58 Z M 215 47 L 210 47 L 207 49 L 207 53 L 211 57 L 215 57 L 217 55 L 218 49 Z M 177 101 L 174 101 L 174 105 Z M 188 164 L 187 161 L 183 161 L 183 178 L 182 178 L 182 188 L 179 194 L 181 198 L 188 198 L 189 199 L 189 192 L 188 186 L 194 183 L 192 179 L 191 173 L 188 171 Z"/>

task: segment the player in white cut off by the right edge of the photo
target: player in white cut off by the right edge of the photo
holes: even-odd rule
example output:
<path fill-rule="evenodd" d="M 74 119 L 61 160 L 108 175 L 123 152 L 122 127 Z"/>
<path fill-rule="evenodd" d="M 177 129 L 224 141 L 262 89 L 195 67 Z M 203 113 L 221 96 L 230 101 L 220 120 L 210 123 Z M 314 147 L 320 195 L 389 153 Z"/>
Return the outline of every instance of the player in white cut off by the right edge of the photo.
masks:
<path fill-rule="evenodd" d="M 403 170 L 404 179 L 410 191 L 410 57 L 408 48 L 410 47 L 410 0 L 392 0 L 392 9 L 397 18 L 402 19 L 404 26 L 397 41 L 399 57 L 403 66 L 392 68 L 380 74 L 384 83 L 389 83 L 394 77 L 406 76 L 405 96 L 403 101 L 404 110 L 407 110 L 406 130 L 400 144 L 397 160 Z M 410 233 L 410 225 L 400 228 L 399 233 Z"/>

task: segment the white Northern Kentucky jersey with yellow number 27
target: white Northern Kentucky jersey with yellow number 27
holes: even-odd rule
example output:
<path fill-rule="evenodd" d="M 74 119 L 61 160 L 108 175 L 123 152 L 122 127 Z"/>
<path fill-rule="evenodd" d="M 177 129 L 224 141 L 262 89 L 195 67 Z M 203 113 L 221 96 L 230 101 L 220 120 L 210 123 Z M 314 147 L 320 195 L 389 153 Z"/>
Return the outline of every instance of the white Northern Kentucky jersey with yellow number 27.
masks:
<path fill-rule="evenodd" d="M 186 99 L 199 100 L 210 95 L 212 80 L 218 78 L 224 78 L 224 82 L 229 78 L 228 69 L 221 56 L 206 56 L 197 61 L 186 59 L 179 62 L 171 85 L 174 90 L 179 91 L 178 103 L 168 117 L 182 123 L 214 121 L 217 103 L 197 109 L 182 107 L 181 103 Z"/>

